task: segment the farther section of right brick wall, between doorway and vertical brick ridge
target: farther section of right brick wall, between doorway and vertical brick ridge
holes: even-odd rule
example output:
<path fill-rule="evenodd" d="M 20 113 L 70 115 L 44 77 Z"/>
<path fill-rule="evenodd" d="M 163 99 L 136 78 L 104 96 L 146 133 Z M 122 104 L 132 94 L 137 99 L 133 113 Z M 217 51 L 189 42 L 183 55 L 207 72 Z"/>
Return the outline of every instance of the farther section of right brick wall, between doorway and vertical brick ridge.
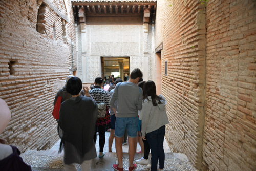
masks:
<path fill-rule="evenodd" d="M 199 12 L 203 7 L 197 1 L 158 1 L 156 18 L 155 47 L 161 43 L 157 29 L 163 33 L 162 93 L 170 121 L 166 138 L 174 152 L 185 153 L 197 168 L 202 159 L 204 114 L 204 20 L 199 26 L 201 16 L 205 18 Z"/>

